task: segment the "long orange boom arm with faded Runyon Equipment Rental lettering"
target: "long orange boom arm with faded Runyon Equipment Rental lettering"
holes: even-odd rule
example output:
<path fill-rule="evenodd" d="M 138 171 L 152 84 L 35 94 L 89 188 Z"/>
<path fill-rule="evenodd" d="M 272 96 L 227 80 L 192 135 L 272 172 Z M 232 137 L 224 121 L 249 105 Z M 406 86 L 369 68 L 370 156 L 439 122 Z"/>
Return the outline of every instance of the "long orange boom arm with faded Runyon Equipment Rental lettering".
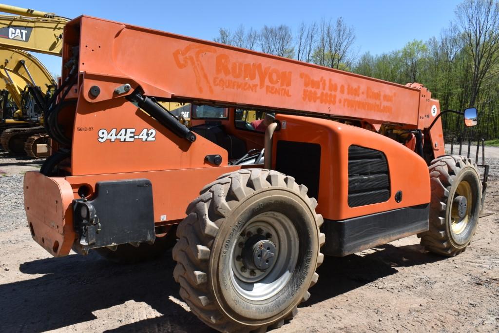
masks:
<path fill-rule="evenodd" d="M 119 98 L 123 94 L 114 89 L 128 83 L 156 97 L 378 124 L 420 126 L 421 113 L 431 112 L 430 105 L 420 103 L 424 93 L 430 100 L 426 88 L 88 16 L 70 25 L 65 52 L 79 46 L 89 102 Z M 94 85 L 100 87 L 98 97 L 88 94 Z"/>

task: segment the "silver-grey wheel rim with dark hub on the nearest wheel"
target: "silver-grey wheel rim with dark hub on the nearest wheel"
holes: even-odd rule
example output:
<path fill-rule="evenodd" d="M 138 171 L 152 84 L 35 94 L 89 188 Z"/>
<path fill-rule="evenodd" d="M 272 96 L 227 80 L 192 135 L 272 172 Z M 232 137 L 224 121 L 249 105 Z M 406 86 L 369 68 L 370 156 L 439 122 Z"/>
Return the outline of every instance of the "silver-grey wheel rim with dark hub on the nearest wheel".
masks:
<path fill-rule="evenodd" d="M 252 301 L 282 290 L 296 267 L 298 239 L 293 223 L 282 213 L 264 212 L 248 221 L 231 249 L 235 290 Z"/>

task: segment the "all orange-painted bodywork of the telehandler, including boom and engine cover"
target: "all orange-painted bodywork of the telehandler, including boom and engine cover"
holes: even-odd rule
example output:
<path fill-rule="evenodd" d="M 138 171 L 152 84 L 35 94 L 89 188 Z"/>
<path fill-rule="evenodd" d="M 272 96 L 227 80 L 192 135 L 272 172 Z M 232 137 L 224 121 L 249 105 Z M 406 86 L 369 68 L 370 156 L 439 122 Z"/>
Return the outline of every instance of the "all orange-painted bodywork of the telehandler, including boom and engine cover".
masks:
<path fill-rule="evenodd" d="M 82 196 L 91 200 L 99 182 L 148 179 L 154 222 L 170 226 L 185 217 L 188 204 L 206 184 L 242 167 L 229 165 L 227 150 L 203 136 L 188 142 L 161 126 L 125 98 L 137 88 L 158 99 L 228 107 L 229 117 L 220 123 L 227 133 L 244 140 L 248 149 L 263 147 L 263 133 L 238 129 L 235 108 L 277 112 L 281 127 L 274 134 L 277 154 L 271 156 L 272 168 L 280 163 L 279 141 L 320 145 L 316 199 L 317 212 L 325 219 L 343 221 L 430 202 L 428 169 L 422 157 L 389 137 L 343 121 L 361 120 L 377 129 L 389 125 L 423 130 L 440 106 L 422 85 L 402 86 L 88 16 L 65 26 L 64 63 L 76 46 L 77 81 L 65 96 L 76 103 L 60 115 L 72 139 L 70 159 L 60 167 L 64 174 L 47 177 L 28 172 L 24 178 L 33 238 L 54 256 L 67 255 L 78 239 L 73 200 Z M 68 75 L 64 67 L 62 78 Z M 131 89 L 117 93 L 124 85 Z M 98 94 L 92 93 L 94 87 L 99 88 Z M 122 135 L 99 140 L 101 130 Z M 433 156 L 443 154 L 440 120 L 425 140 L 430 141 Z M 387 200 L 350 207 L 351 146 L 384 154 Z M 215 165 L 207 155 L 219 155 L 222 162 Z M 403 200 L 395 200 L 398 192 Z"/>

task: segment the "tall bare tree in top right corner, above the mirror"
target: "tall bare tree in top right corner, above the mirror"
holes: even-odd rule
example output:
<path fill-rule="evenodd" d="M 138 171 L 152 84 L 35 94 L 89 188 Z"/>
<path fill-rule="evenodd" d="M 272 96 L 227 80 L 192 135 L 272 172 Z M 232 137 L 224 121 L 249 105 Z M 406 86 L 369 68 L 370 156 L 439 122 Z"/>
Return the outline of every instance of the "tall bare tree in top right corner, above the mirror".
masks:
<path fill-rule="evenodd" d="M 499 63 L 499 3 L 466 0 L 458 5 L 456 16 L 473 62 L 470 105 L 475 105 L 484 78 Z"/>

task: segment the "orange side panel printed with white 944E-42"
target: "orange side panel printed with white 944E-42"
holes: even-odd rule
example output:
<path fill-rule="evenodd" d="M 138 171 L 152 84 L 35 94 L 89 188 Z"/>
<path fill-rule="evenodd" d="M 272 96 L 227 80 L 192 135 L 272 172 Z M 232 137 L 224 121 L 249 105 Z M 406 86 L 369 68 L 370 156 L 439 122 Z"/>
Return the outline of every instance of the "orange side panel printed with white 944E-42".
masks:
<path fill-rule="evenodd" d="M 121 131 L 125 136 L 118 137 Z M 210 154 L 221 155 L 221 166 L 227 165 L 222 147 L 200 135 L 193 143 L 176 136 L 125 98 L 100 103 L 78 98 L 73 175 L 209 168 L 214 167 L 205 161 Z"/>

